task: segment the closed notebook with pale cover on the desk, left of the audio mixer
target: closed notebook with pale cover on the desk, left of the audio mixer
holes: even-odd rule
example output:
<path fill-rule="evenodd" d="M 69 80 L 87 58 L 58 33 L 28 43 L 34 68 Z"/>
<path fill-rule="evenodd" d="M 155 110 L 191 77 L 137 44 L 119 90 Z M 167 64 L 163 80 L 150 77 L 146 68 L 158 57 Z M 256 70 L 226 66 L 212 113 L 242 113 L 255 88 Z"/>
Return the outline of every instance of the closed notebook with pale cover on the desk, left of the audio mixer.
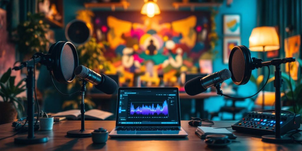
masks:
<path fill-rule="evenodd" d="M 223 135 L 227 135 L 231 139 L 237 137 L 236 135 L 234 135 L 232 132 L 230 132 L 226 128 L 199 126 L 199 127 L 197 127 L 195 133 L 197 135 L 199 135 L 199 137 L 201 137 L 202 139 L 204 139 L 207 135 L 210 135 L 210 134 L 223 134 Z"/>

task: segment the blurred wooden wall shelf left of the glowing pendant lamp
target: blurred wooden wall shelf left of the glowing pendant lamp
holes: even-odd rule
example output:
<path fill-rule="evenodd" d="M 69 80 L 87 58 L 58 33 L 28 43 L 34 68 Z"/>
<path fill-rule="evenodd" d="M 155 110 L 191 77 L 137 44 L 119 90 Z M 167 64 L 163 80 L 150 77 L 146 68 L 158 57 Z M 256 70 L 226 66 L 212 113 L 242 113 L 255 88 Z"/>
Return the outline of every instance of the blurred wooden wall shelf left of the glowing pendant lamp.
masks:
<path fill-rule="evenodd" d="M 115 8 L 122 7 L 127 9 L 130 6 L 129 2 L 103 2 L 103 3 L 84 3 L 85 8 L 108 8 L 111 7 L 112 11 L 115 11 Z"/>

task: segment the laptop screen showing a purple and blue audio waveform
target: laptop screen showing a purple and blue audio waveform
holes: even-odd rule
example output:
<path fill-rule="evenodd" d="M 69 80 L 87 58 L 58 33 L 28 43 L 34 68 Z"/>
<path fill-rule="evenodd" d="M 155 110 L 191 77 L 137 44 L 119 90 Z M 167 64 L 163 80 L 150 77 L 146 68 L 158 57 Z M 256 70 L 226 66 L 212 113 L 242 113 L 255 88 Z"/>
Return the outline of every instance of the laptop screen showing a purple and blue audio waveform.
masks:
<path fill-rule="evenodd" d="M 180 126 L 178 88 L 119 88 L 117 126 Z"/>

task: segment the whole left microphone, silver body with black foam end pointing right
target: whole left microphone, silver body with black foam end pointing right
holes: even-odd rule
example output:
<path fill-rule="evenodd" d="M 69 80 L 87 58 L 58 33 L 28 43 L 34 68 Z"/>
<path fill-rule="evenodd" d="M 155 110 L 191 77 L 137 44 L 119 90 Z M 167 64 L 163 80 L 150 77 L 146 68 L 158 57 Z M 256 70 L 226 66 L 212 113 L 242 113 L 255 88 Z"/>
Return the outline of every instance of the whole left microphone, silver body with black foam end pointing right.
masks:
<path fill-rule="evenodd" d="M 104 74 L 100 75 L 85 66 L 77 66 L 75 75 L 92 83 L 95 88 L 106 94 L 113 94 L 117 89 L 117 83 L 113 79 Z"/>

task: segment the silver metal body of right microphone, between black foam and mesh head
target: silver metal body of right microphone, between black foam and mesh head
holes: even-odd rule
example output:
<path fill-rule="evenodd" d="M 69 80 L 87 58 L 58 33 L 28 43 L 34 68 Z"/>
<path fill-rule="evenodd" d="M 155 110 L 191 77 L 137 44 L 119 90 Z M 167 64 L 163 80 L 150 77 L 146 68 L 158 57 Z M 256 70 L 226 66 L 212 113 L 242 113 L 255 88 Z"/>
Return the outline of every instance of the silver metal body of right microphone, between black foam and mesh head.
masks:
<path fill-rule="evenodd" d="M 200 79 L 201 86 L 203 88 L 210 88 L 211 86 L 221 83 L 224 80 L 220 78 L 220 75 L 218 72 L 214 72 L 210 75 L 207 75 Z"/>

